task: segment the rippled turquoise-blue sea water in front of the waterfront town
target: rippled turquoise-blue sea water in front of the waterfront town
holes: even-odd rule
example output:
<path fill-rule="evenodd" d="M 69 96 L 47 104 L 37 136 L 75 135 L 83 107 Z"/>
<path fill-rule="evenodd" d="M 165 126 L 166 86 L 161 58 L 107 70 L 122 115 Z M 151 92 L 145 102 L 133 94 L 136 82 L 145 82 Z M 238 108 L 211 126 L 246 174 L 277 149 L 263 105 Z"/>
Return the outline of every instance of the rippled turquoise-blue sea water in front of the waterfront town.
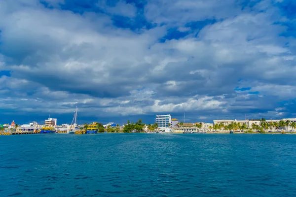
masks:
<path fill-rule="evenodd" d="M 296 197 L 296 135 L 0 136 L 0 197 Z"/>

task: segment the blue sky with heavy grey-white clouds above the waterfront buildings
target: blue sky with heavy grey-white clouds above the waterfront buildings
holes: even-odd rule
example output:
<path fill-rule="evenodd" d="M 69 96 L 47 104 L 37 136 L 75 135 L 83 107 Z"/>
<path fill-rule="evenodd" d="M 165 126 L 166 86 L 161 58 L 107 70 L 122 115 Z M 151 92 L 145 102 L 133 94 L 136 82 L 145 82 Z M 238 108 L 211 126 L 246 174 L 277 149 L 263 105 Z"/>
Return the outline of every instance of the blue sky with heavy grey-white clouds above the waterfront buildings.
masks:
<path fill-rule="evenodd" d="M 296 117 L 294 0 L 0 2 L 0 123 Z"/>

